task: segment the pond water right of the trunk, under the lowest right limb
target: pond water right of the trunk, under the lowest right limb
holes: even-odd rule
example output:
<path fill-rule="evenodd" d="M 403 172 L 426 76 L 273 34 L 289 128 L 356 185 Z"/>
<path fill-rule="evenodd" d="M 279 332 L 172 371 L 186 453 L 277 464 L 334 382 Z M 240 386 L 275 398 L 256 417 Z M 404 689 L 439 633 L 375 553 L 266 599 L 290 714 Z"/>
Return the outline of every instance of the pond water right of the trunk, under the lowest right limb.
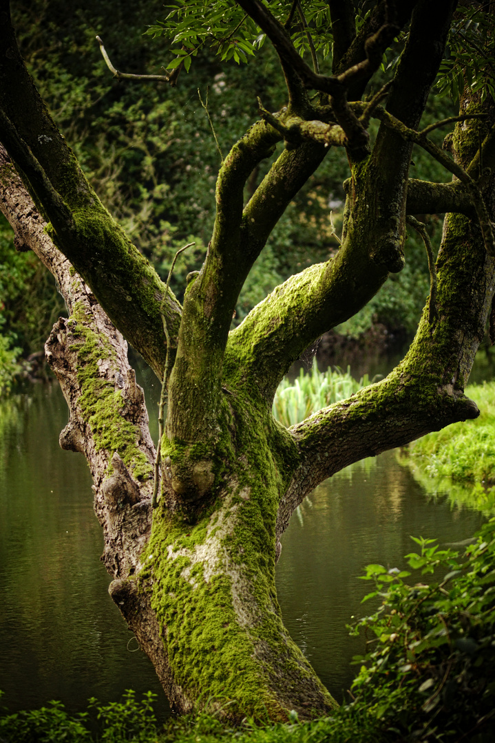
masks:
<path fill-rule="evenodd" d="M 291 636 L 331 694 L 342 701 L 363 643 L 346 623 L 372 609 L 361 605 L 369 583 L 364 565 L 404 565 L 412 536 L 456 542 L 472 536 L 483 517 L 473 510 L 428 502 L 395 452 L 366 460 L 320 485 L 301 505 L 282 539 L 276 585 Z"/>

